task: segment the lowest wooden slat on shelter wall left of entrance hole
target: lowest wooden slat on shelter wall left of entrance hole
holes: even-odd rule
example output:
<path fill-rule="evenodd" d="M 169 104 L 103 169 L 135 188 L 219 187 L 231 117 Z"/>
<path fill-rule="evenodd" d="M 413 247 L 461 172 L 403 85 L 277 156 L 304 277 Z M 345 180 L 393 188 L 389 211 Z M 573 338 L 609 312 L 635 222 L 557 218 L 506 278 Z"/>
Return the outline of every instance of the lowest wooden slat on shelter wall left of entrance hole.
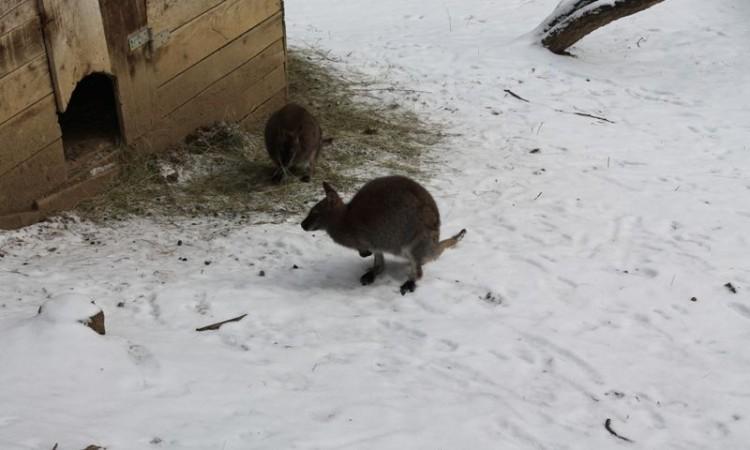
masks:
<path fill-rule="evenodd" d="M 0 214 L 26 211 L 66 179 L 62 139 L 0 177 Z"/>

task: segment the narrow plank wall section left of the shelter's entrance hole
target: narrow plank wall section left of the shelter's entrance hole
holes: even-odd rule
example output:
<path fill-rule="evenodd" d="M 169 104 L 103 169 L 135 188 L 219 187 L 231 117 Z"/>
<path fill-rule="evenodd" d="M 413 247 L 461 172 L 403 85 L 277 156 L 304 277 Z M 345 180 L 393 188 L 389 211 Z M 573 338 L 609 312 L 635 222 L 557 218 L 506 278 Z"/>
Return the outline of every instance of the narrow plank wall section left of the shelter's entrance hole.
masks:
<path fill-rule="evenodd" d="M 66 179 L 37 0 L 0 2 L 0 214 Z"/>

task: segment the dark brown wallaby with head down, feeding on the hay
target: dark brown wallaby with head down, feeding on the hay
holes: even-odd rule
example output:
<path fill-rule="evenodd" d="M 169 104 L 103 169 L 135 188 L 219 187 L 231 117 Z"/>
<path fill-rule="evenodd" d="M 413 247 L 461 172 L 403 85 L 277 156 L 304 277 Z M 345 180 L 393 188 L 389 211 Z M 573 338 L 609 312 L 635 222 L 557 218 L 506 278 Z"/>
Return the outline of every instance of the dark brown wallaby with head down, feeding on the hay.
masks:
<path fill-rule="evenodd" d="M 322 144 L 318 121 L 305 108 L 289 103 L 271 115 L 265 130 L 266 150 L 276 164 L 272 180 L 286 178 L 301 169 L 302 181 L 310 181 Z"/>

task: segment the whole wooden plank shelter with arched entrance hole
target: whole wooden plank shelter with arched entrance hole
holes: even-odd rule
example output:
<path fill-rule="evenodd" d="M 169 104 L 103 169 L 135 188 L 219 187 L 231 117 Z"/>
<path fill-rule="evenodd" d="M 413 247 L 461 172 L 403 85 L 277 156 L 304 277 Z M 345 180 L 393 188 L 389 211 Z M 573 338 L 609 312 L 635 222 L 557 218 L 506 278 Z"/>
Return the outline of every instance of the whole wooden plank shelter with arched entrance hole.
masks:
<path fill-rule="evenodd" d="M 287 98 L 282 0 L 0 0 L 0 228 L 155 152 Z"/>

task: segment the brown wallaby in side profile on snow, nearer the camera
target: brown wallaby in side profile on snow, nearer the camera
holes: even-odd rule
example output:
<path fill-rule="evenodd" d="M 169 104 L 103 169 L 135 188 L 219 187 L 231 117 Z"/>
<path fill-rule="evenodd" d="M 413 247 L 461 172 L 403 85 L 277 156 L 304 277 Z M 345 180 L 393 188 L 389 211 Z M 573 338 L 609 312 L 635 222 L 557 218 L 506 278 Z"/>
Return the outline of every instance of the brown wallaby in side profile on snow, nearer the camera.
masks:
<path fill-rule="evenodd" d="M 401 295 L 414 292 L 422 278 L 422 265 L 437 259 L 443 250 L 460 241 L 466 230 L 440 240 L 440 212 L 435 200 L 419 183 L 406 177 L 376 178 L 345 204 L 339 194 L 323 183 L 326 198 L 318 202 L 302 222 L 305 231 L 325 230 L 344 247 L 360 256 L 375 254 L 375 264 L 360 278 L 371 284 L 383 272 L 383 253 L 403 256 L 411 263 L 409 279 Z"/>

